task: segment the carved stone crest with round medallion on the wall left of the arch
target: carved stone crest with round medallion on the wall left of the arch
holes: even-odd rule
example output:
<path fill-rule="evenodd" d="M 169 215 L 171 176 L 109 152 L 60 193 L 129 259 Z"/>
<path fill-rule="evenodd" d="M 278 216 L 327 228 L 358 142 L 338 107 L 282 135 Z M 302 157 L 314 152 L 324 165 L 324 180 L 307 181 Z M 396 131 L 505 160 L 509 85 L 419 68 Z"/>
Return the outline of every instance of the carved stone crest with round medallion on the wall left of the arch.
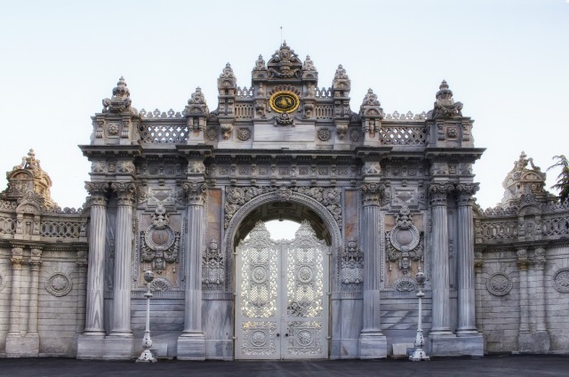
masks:
<path fill-rule="evenodd" d="M 174 231 L 169 221 L 164 205 L 158 203 L 152 224 L 140 232 L 140 259 L 152 262 L 158 274 L 166 268 L 166 263 L 178 261 L 180 232 Z"/>

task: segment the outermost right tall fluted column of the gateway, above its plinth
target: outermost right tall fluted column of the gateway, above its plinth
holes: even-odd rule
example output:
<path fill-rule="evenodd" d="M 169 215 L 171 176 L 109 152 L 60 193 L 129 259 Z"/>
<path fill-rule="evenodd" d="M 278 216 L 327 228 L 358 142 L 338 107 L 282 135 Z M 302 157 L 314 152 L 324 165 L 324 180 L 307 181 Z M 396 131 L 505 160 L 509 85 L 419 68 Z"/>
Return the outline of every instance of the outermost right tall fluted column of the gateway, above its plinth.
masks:
<path fill-rule="evenodd" d="M 474 291 L 474 223 L 472 195 L 477 184 L 459 184 L 458 191 L 458 326 L 457 335 L 477 333 Z"/>

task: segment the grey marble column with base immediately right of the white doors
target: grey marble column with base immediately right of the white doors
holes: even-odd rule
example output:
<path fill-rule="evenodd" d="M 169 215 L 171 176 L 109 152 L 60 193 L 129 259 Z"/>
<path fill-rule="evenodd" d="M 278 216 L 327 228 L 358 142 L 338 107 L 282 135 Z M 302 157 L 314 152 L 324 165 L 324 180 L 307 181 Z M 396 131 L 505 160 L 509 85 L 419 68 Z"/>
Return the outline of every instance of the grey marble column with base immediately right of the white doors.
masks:
<path fill-rule="evenodd" d="M 359 339 L 361 358 L 387 357 L 387 339 L 381 333 L 380 202 L 385 186 L 362 185 L 362 251 L 364 253 L 364 324 Z"/>

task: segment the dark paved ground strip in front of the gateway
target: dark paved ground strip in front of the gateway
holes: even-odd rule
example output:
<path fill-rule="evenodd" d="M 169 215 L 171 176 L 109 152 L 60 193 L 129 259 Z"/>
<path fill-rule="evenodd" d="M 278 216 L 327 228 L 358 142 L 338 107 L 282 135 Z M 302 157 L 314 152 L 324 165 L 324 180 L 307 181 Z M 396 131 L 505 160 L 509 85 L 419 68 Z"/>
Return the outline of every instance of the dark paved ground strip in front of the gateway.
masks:
<path fill-rule="evenodd" d="M 4 377 L 91 377 L 91 376 L 212 376 L 212 377 L 285 377 L 285 376 L 568 376 L 569 357 L 565 356 L 491 356 L 481 358 L 436 358 L 429 362 L 406 360 L 338 361 L 176 361 L 155 364 L 82 361 L 69 358 L 3 358 L 0 376 Z"/>

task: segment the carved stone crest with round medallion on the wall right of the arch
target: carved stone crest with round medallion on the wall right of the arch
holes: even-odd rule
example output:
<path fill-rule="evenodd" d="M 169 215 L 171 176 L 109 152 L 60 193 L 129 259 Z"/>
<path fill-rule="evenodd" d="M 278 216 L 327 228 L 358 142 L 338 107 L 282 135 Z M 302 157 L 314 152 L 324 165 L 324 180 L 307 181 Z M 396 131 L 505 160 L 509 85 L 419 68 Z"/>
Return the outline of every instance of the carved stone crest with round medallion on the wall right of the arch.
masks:
<path fill-rule="evenodd" d="M 409 208 L 404 206 L 396 216 L 397 225 L 386 232 L 387 259 L 398 262 L 398 267 L 407 275 L 412 269 L 413 261 L 421 261 L 423 245 L 421 232 L 413 225 L 413 217 Z"/>

